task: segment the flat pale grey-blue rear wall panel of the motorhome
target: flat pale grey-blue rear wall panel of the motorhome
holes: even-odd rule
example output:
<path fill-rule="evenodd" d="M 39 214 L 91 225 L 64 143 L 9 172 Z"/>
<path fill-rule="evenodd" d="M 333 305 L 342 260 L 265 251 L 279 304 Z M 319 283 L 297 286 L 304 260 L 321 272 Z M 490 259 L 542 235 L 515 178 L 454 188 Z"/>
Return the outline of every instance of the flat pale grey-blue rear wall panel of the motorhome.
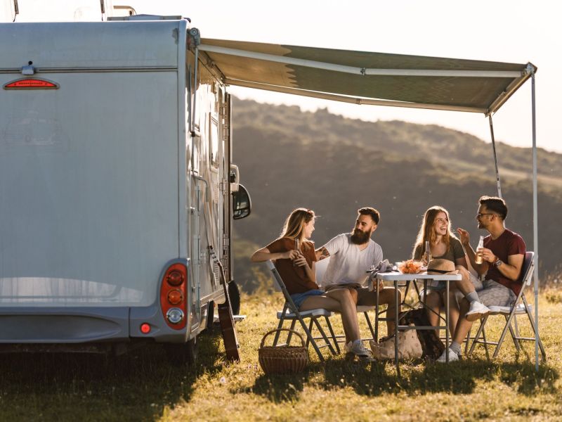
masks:
<path fill-rule="evenodd" d="M 0 39 L 15 40 L 0 85 L 30 59 L 60 86 L 0 91 L 1 306 L 157 299 L 180 257 L 177 25 L 0 25 Z M 84 42 L 88 52 L 70 54 Z M 84 70 L 94 63 L 109 70 Z"/>

